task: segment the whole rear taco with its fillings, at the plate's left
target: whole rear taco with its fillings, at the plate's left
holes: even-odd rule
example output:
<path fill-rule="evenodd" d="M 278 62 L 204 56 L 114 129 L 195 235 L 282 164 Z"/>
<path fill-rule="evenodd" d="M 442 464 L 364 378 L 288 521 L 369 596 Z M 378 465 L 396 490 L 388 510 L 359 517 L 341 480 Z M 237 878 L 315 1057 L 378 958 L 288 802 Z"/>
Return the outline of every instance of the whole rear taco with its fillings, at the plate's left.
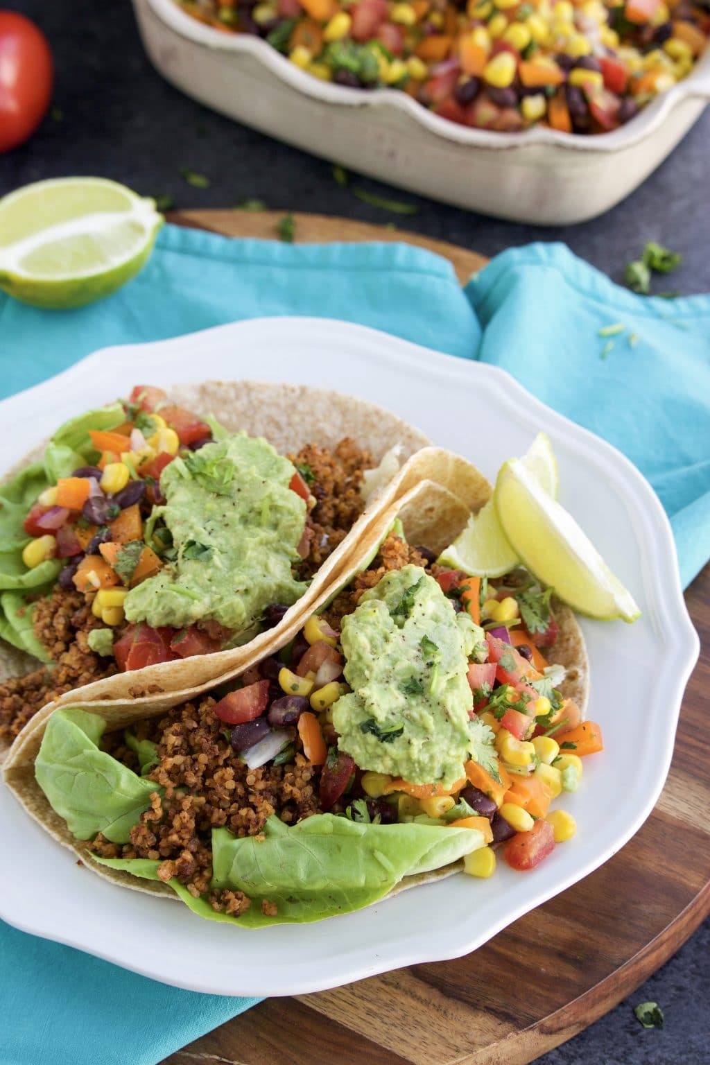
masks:
<path fill-rule="evenodd" d="M 238 665 L 427 443 L 375 405 L 248 381 L 137 386 L 64 424 L 0 486 L 0 750 L 73 689 L 150 697 Z"/>

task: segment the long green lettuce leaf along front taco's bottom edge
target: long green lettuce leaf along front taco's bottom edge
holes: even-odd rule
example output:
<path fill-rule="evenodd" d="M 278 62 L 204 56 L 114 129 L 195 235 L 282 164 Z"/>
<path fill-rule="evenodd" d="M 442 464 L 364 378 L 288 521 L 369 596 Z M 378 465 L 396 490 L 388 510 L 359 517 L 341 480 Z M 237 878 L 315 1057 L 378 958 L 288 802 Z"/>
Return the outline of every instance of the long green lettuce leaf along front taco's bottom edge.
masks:
<path fill-rule="evenodd" d="M 227 829 L 212 832 L 212 887 L 244 891 L 251 906 L 242 917 L 217 913 L 177 881 L 169 881 L 170 887 L 194 913 L 211 920 L 242 928 L 304 923 L 367 906 L 403 876 L 440 869 L 483 846 L 483 835 L 475 829 L 365 824 L 332 814 L 317 814 L 291 828 L 270 817 L 262 835 L 238 839 Z M 159 862 L 95 861 L 159 879 Z M 262 913 L 263 900 L 276 903 L 278 913 Z"/>

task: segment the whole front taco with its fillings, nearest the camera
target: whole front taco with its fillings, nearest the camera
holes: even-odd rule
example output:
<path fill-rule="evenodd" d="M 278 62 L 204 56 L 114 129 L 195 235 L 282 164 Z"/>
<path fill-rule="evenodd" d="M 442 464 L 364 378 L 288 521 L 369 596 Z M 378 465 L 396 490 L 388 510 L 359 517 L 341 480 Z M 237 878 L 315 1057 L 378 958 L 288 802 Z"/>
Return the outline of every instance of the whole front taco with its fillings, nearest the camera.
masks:
<path fill-rule="evenodd" d="M 587 654 L 528 574 L 494 589 L 436 563 L 469 513 L 419 484 L 246 668 L 151 705 L 56 708 L 6 783 L 97 873 L 243 928 L 489 875 L 499 842 L 531 868 L 577 786 L 561 749 L 585 753 Z"/>

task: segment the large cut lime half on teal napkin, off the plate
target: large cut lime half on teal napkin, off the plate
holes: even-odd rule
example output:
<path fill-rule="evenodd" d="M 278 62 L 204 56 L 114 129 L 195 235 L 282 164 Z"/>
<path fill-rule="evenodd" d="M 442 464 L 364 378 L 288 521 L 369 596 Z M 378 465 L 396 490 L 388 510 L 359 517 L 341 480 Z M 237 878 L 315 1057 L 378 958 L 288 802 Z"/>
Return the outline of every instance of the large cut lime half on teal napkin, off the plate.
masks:
<path fill-rule="evenodd" d="M 148 260 L 155 202 L 103 178 L 55 178 L 0 199 L 0 289 L 34 307 L 101 299 Z"/>

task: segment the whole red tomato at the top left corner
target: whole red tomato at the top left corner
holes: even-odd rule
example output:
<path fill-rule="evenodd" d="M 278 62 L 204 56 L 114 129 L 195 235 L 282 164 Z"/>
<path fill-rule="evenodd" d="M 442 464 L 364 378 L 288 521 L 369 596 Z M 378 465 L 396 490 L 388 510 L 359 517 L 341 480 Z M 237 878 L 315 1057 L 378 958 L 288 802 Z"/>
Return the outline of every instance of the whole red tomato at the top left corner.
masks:
<path fill-rule="evenodd" d="M 42 121 L 54 67 L 47 37 L 14 11 L 0 11 L 0 152 L 22 144 Z"/>

